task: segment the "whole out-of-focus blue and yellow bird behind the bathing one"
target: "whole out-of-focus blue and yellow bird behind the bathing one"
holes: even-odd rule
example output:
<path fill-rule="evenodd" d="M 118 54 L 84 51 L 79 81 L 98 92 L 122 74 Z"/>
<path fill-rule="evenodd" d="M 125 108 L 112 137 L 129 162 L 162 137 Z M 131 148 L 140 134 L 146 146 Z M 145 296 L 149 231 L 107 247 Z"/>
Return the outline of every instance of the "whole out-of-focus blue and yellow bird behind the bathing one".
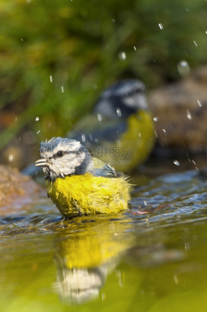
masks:
<path fill-rule="evenodd" d="M 67 134 L 92 155 L 125 173 L 142 164 L 155 142 L 153 119 L 140 80 L 121 80 L 104 90 L 93 113 Z"/>

